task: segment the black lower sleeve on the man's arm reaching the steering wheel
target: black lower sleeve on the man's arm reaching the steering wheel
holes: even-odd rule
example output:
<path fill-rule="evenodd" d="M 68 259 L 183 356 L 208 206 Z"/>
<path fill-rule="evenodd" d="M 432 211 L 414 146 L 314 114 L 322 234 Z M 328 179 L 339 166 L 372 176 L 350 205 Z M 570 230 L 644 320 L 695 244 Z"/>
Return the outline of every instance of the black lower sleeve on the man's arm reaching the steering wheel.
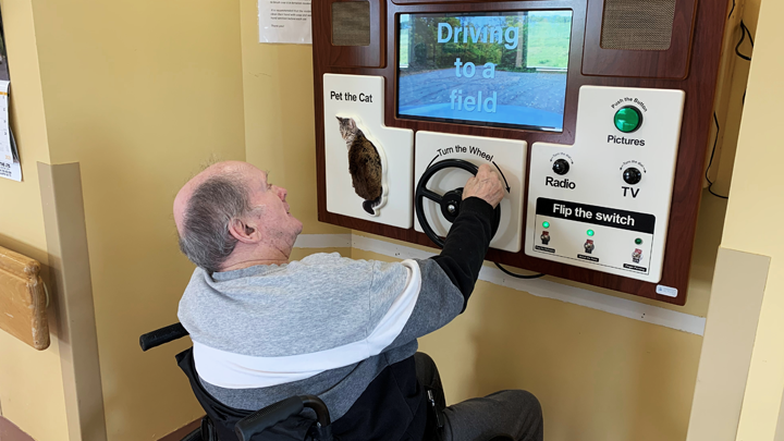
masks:
<path fill-rule="evenodd" d="M 479 278 L 485 255 L 492 240 L 493 208 L 478 197 L 469 197 L 461 204 L 461 212 L 452 223 L 444 247 L 433 260 L 446 273 L 465 298 L 463 310 Z"/>

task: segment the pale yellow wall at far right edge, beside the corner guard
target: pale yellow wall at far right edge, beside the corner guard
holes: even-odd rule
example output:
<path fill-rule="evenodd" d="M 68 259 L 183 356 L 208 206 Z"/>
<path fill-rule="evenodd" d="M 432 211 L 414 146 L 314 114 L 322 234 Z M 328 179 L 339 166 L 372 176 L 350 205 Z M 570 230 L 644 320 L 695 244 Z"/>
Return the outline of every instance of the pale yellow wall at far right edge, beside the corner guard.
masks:
<path fill-rule="evenodd" d="M 773 439 L 784 389 L 784 236 L 779 234 L 784 182 L 775 171 L 784 161 L 782 14 L 784 3 L 779 1 L 765 1 L 760 9 L 722 240 L 725 248 L 771 257 L 737 434 L 744 441 Z M 765 164 L 770 172 L 761 168 Z"/>

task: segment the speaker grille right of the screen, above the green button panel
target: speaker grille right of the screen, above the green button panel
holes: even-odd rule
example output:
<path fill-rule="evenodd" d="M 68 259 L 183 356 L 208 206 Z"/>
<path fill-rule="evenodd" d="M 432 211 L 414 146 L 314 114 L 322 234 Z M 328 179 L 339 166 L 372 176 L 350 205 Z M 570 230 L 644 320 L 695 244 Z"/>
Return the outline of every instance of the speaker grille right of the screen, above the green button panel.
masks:
<path fill-rule="evenodd" d="M 667 50 L 675 0 L 604 0 L 601 47 Z"/>

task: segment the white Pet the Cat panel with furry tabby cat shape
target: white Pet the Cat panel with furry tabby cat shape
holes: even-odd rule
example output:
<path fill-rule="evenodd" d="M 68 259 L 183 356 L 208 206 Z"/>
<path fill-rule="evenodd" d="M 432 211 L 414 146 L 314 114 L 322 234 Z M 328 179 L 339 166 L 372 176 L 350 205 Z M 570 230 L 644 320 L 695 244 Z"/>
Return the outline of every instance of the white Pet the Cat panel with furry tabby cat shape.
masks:
<path fill-rule="evenodd" d="M 323 103 L 327 211 L 412 228 L 414 132 L 384 125 L 384 77 L 324 74 Z"/>

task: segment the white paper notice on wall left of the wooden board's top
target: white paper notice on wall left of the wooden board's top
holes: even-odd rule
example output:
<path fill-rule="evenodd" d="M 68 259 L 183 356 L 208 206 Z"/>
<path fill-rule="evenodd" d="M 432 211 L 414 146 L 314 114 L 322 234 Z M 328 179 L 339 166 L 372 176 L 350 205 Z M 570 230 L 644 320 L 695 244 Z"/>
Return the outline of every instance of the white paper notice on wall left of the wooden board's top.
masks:
<path fill-rule="evenodd" d="M 310 45 L 311 0 L 259 0 L 259 41 Z"/>

